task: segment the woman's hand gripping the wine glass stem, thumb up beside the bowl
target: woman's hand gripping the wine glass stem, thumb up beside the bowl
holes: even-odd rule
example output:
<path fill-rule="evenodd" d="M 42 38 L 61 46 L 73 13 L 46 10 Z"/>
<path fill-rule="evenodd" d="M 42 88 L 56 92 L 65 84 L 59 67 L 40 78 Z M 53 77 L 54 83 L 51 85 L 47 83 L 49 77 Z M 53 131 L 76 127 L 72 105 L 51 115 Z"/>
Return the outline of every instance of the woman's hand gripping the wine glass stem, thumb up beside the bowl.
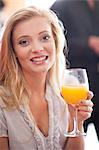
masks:
<path fill-rule="evenodd" d="M 75 117 L 75 107 L 78 110 L 78 128 L 79 130 L 83 130 L 83 123 L 86 119 L 91 117 L 91 113 L 93 111 L 93 102 L 91 101 L 93 97 L 93 93 L 91 91 L 88 91 L 88 96 L 86 100 L 82 100 L 79 105 L 72 106 L 69 105 L 69 111 L 70 111 L 70 126 L 69 130 L 73 129 L 73 120 Z"/>

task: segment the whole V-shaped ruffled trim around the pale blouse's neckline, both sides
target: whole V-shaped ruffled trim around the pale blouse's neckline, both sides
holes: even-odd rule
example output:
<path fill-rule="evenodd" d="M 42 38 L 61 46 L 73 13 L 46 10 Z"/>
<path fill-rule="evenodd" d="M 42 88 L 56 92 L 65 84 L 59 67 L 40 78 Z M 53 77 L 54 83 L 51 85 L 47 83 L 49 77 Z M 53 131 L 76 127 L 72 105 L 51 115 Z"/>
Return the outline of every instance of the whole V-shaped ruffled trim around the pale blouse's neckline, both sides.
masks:
<path fill-rule="evenodd" d="M 52 93 L 51 89 L 49 89 L 49 87 L 47 89 L 46 99 L 49 106 L 49 133 L 47 137 L 43 135 L 43 133 L 37 128 L 33 120 L 30 119 L 24 106 L 20 107 L 20 113 L 33 132 L 33 137 L 35 139 L 35 142 L 37 143 L 38 150 L 62 150 L 59 143 L 59 106 L 58 102 L 55 103 L 55 96 Z"/>

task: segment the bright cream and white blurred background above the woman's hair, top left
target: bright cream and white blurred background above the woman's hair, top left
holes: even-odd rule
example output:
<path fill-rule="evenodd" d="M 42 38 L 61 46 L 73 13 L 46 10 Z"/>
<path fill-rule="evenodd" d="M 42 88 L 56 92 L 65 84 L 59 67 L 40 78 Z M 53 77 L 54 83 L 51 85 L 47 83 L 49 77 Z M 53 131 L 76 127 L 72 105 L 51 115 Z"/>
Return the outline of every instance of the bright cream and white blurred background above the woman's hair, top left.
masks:
<path fill-rule="evenodd" d="M 0 0 L 0 31 L 4 21 L 16 10 L 36 5 L 39 7 L 50 7 L 55 0 Z"/>

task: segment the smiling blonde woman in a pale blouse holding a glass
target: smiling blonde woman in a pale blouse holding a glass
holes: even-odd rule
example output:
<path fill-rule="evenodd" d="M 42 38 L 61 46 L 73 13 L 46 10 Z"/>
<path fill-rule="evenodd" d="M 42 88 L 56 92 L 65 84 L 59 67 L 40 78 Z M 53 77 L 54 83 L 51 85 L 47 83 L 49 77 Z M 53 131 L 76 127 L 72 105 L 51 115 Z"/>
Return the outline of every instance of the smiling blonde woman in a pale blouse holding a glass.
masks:
<path fill-rule="evenodd" d="M 83 137 L 63 135 L 73 122 L 73 108 L 60 94 L 64 45 L 60 22 L 50 10 L 24 8 L 6 23 L 0 68 L 1 149 L 84 149 Z M 80 130 L 92 106 L 91 100 L 79 105 Z"/>

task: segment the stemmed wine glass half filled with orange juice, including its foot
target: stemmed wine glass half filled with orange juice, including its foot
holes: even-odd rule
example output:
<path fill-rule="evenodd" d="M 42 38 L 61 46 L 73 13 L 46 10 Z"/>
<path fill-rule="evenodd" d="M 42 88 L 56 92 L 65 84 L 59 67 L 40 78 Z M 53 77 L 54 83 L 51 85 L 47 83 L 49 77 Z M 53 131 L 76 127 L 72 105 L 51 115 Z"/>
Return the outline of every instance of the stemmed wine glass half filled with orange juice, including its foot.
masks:
<path fill-rule="evenodd" d="M 80 101 L 87 98 L 89 90 L 88 77 L 86 69 L 71 68 L 65 70 L 61 94 L 64 100 L 71 105 L 79 105 Z M 86 135 L 78 129 L 77 107 L 75 107 L 75 116 L 73 122 L 73 131 L 66 132 L 66 137 L 76 137 Z"/>

